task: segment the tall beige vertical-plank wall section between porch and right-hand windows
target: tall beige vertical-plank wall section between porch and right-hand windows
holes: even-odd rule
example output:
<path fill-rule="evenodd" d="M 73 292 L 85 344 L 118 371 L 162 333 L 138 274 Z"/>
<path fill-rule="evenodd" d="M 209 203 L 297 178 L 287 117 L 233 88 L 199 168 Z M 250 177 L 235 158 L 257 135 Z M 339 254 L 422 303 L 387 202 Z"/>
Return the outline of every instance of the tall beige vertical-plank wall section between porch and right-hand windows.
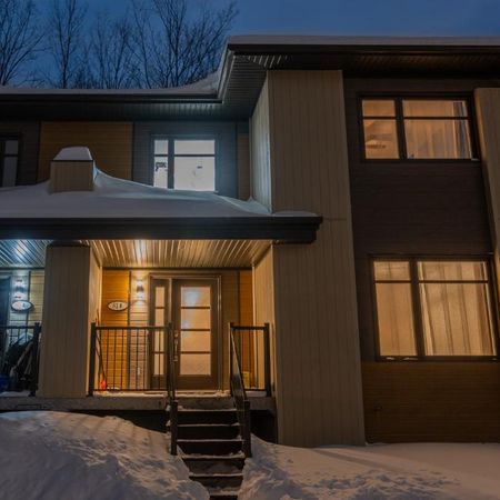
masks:
<path fill-rule="evenodd" d="M 253 197 L 272 211 L 323 216 L 313 244 L 276 246 L 268 257 L 279 440 L 362 443 L 342 73 L 270 71 L 251 130 Z M 256 297 L 269 292 L 258 282 Z"/>

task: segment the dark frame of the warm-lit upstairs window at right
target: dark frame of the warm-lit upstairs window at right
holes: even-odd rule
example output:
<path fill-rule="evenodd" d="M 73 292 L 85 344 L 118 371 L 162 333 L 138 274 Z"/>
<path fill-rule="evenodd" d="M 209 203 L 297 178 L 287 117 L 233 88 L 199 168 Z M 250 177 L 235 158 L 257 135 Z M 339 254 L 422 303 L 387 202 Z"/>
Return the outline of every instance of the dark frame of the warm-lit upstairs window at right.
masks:
<path fill-rule="evenodd" d="M 367 158 L 367 151 L 364 147 L 364 116 L 363 116 L 363 100 L 386 100 L 394 101 L 394 117 L 372 117 L 372 119 L 380 118 L 382 120 L 396 120 L 396 132 L 398 140 L 399 158 Z M 462 100 L 466 101 L 468 116 L 462 118 L 467 119 L 470 131 L 470 146 L 472 151 L 472 158 L 408 158 L 407 154 L 407 141 L 404 134 L 404 117 L 402 110 L 403 100 L 422 100 L 422 101 L 440 101 L 440 100 Z M 361 163 L 404 163 L 404 164 L 430 164 L 430 163 L 463 163 L 463 164 L 477 164 L 481 161 L 479 149 L 479 136 L 476 123 L 476 107 L 470 93 L 453 93 L 453 92 L 361 92 L 357 94 L 358 103 L 358 138 L 359 138 L 359 158 Z M 412 117 L 411 119 L 413 119 Z M 446 119 L 454 119 L 452 117 L 444 117 Z M 438 119 L 442 120 L 443 117 L 417 117 L 416 119 Z M 456 118 L 460 119 L 460 118 Z"/>

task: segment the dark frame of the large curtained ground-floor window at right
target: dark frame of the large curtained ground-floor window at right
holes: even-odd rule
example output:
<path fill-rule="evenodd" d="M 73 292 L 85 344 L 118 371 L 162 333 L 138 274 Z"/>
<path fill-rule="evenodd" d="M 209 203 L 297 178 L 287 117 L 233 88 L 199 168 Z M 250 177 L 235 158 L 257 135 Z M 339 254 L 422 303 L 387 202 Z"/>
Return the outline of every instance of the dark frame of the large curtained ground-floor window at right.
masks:
<path fill-rule="evenodd" d="M 414 343 L 417 349 L 416 356 L 384 356 L 380 352 L 380 330 L 379 330 L 379 318 L 377 310 L 377 281 L 374 276 L 374 262 L 377 260 L 381 261 L 404 261 L 409 262 L 410 267 L 410 287 L 411 287 L 411 306 L 413 312 L 413 330 L 414 330 Z M 426 354 L 424 352 L 424 334 L 422 326 L 422 316 L 418 311 L 421 310 L 420 307 L 420 292 L 419 292 L 419 280 L 418 280 L 418 262 L 419 261 L 483 261 L 486 263 L 486 269 L 488 273 L 488 289 L 490 292 L 491 300 L 491 328 L 493 344 L 497 354 L 493 356 L 432 356 Z M 498 302 L 498 288 L 494 281 L 494 263 L 491 254 L 468 254 L 468 256 L 443 256 L 443 254 L 370 254 L 369 256 L 369 277 L 371 287 L 371 308 L 372 308 L 372 319 L 373 319 L 373 332 L 374 332 L 374 359 L 378 362 L 464 362 L 464 361 L 487 361 L 487 362 L 499 362 L 500 361 L 500 336 L 499 336 L 499 302 Z M 397 282 L 397 281 L 396 281 Z M 408 282 L 408 281 L 404 281 Z M 476 281 L 474 281 L 476 282 Z"/>

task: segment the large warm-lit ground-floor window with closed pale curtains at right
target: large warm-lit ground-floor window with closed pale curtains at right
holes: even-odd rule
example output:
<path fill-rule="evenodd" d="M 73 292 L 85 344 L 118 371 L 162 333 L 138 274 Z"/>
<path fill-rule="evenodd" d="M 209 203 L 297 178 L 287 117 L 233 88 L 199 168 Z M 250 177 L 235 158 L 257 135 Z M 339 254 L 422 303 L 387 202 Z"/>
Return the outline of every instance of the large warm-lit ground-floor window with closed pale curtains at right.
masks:
<path fill-rule="evenodd" d="M 374 260 L 382 358 L 497 356 L 487 260 Z"/>

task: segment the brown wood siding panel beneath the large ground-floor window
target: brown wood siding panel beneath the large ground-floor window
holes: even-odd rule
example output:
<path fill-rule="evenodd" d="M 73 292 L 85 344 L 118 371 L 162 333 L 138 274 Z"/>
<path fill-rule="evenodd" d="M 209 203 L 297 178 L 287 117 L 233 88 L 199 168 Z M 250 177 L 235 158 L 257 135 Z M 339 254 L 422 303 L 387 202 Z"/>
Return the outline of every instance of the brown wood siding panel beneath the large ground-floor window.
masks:
<path fill-rule="evenodd" d="M 363 363 L 368 442 L 500 441 L 500 364 Z"/>

